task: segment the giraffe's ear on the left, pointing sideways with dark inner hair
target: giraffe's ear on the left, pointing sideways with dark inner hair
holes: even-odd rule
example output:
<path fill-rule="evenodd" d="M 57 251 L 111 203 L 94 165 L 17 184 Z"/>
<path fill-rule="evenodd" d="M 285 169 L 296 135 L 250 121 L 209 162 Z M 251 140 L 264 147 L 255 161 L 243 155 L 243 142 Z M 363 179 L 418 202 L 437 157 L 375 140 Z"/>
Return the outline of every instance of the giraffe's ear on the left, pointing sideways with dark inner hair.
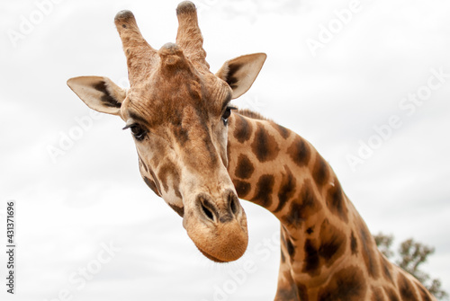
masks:
<path fill-rule="evenodd" d="M 67 81 L 67 85 L 89 108 L 102 113 L 121 115 L 121 102 L 127 96 L 127 91 L 108 77 L 73 77 Z"/>

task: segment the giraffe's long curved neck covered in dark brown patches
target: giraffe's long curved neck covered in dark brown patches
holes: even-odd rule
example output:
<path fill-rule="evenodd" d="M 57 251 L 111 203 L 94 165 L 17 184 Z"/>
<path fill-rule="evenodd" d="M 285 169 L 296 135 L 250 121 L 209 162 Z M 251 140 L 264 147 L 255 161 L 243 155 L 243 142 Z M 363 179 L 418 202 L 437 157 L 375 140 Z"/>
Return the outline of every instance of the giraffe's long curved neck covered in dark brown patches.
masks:
<path fill-rule="evenodd" d="M 412 294 L 404 289 L 402 295 L 399 283 L 414 296 L 428 296 L 378 251 L 336 174 L 309 142 L 275 122 L 240 113 L 247 116 L 232 114 L 229 120 L 228 172 L 240 199 L 280 220 L 275 300 L 400 300 Z"/>

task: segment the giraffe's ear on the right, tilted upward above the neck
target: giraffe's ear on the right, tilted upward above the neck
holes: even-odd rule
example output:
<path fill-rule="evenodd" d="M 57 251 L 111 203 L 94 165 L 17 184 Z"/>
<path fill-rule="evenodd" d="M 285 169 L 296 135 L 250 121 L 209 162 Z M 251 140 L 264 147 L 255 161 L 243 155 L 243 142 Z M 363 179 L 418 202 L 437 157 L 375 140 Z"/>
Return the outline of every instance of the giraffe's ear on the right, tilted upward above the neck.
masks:
<path fill-rule="evenodd" d="M 254 53 L 230 59 L 220 67 L 216 75 L 229 84 L 233 90 L 232 99 L 250 89 L 266 58 L 266 53 Z"/>

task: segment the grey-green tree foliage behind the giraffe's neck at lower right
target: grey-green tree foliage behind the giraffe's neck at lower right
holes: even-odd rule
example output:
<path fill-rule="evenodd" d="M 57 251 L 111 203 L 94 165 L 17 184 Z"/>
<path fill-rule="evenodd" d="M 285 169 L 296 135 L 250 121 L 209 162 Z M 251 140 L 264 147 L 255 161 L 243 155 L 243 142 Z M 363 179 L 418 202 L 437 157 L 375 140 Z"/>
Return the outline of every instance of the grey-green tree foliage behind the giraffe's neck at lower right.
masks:
<path fill-rule="evenodd" d="M 380 233 L 374 235 L 374 238 L 378 249 L 383 252 L 384 256 L 392 258 L 394 255 L 394 252 L 392 252 L 393 235 L 383 235 L 383 233 Z M 441 281 L 439 279 L 431 279 L 428 273 L 419 270 L 419 266 L 427 261 L 428 256 L 434 252 L 435 248 L 416 242 L 410 238 L 401 243 L 398 252 L 400 258 L 396 263 L 401 269 L 408 271 L 411 275 L 419 279 L 438 300 L 446 300 L 448 294 L 441 288 Z"/>

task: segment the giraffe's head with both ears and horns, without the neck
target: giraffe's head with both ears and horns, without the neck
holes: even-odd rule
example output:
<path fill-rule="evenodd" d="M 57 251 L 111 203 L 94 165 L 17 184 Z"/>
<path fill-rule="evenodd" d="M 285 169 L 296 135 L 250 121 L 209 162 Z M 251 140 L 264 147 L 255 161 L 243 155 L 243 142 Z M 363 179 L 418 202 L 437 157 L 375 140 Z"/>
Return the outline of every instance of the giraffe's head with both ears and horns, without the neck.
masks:
<path fill-rule="evenodd" d="M 247 218 L 227 173 L 231 99 L 247 92 L 265 54 L 231 59 L 214 75 L 205 60 L 195 6 L 176 8 L 176 43 L 153 49 L 132 13 L 114 22 L 127 58 L 130 88 L 81 76 L 68 86 L 95 111 L 130 128 L 139 171 L 151 190 L 183 217 L 197 248 L 212 261 L 237 260 L 247 249 Z"/>

